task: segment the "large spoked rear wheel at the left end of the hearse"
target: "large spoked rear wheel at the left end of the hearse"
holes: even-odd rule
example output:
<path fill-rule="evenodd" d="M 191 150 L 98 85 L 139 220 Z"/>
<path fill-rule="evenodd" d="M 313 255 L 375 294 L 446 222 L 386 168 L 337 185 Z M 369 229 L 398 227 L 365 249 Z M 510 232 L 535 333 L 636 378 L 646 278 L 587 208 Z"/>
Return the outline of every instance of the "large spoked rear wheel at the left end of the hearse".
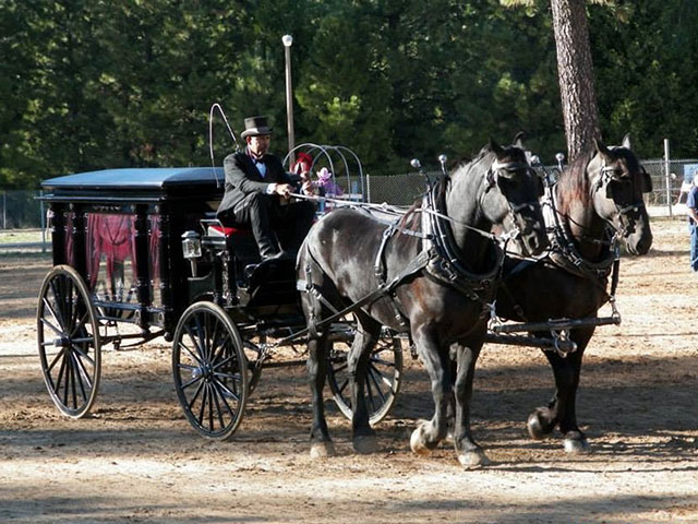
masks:
<path fill-rule="evenodd" d="M 71 266 L 57 265 L 41 284 L 36 327 L 44 382 L 64 415 L 89 413 L 101 374 L 101 348 L 89 290 Z"/>

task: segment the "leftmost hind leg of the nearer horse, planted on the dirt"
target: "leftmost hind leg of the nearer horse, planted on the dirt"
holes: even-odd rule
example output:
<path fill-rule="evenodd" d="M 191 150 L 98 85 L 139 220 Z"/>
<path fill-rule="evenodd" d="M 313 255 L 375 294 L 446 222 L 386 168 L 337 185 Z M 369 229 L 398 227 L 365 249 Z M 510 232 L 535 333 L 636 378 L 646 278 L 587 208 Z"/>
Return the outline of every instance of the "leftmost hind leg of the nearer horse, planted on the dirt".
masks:
<path fill-rule="evenodd" d="M 313 401 L 313 425 L 310 430 L 310 456 L 312 458 L 335 454 L 335 445 L 329 438 L 323 403 L 323 389 L 327 376 L 327 346 L 326 333 L 308 342 L 308 374 Z"/>

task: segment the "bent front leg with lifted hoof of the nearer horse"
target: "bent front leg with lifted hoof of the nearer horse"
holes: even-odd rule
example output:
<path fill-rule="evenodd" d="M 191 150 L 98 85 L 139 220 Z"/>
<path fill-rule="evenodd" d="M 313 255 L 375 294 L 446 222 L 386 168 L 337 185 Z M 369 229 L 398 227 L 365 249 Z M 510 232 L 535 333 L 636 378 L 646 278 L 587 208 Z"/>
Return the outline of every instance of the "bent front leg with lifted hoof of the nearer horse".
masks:
<path fill-rule="evenodd" d="M 453 397 L 450 364 L 448 352 L 440 350 L 435 336 L 425 327 L 414 329 L 412 340 L 429 373 L 434 397 L 434 416 L 412 431 L 410 448 L 419 455 L 426 455 L 448 432 L 448 404 Z"/>

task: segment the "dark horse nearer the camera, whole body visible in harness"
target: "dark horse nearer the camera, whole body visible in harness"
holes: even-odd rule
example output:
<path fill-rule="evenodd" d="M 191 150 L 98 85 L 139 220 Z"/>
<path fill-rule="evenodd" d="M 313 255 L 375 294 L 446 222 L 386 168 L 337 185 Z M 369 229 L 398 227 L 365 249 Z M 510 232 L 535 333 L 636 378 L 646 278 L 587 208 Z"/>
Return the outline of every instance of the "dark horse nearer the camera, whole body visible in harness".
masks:
<path fill-rule="evenodd" d="M 348 356 L 354 450 L 377 449 L 364 385 L 368 359 L 385 325 L 410 334 L 431 379 L 435 413 L 414 430 L 412 450 L 428 452 L 444 439 L 447 405 L 455 396 L 458 458 L 467 466 L 486 461 L 471 437 L 469 404 L 472 370 L 486 331 L 483 311 L 494 297 L 503 260 L 489 231 L 493 224 L 505 230 L 518 228 L 522 249 L 542 252 L 547 238 L 539 189 L 540 180 L 521 148 L 491 142 L 472 162 L 441 180 L 398 224 L 386 225 L 365 211 L 340 209 L 313 226 L 298 259 L 311 333 L 311 456 L 335 452 L 322 393 L 327 330 L 315 325 L 342 308 L 360 305 L 353 311 L 358 330 Z M 458 362 L 455 383 L 448 371 L 452 346 Z"/>

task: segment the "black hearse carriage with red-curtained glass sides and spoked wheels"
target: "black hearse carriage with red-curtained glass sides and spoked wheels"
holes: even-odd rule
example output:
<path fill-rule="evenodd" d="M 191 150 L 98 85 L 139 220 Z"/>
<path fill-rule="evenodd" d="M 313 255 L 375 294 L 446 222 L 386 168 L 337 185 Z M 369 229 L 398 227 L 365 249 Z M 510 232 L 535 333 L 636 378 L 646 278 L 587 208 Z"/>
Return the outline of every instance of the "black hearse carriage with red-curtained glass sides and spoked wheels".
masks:
<path fill-rule="evenodd" d="M 292 260 L 258 263 L 250 231 L 215 219 L 222 170 L 109 169 L 46 180 L 53 269 L 37 308 L 44 379 L 56 406 L 80 418 L 92 408 L 101 348 L 158 336 L 172 341 L 179 402 L 201 434 L 227 439 L 237 429 L 262 365 L 305 326 Z M 332 324 L 328 382 L 350 416 L 345 386 L 349 315 Z M 272 342 L 276 341 L 276 342 Z M 399 386 L 400 341 L 386 333 L 374 354 L 372 421 Z"/>

